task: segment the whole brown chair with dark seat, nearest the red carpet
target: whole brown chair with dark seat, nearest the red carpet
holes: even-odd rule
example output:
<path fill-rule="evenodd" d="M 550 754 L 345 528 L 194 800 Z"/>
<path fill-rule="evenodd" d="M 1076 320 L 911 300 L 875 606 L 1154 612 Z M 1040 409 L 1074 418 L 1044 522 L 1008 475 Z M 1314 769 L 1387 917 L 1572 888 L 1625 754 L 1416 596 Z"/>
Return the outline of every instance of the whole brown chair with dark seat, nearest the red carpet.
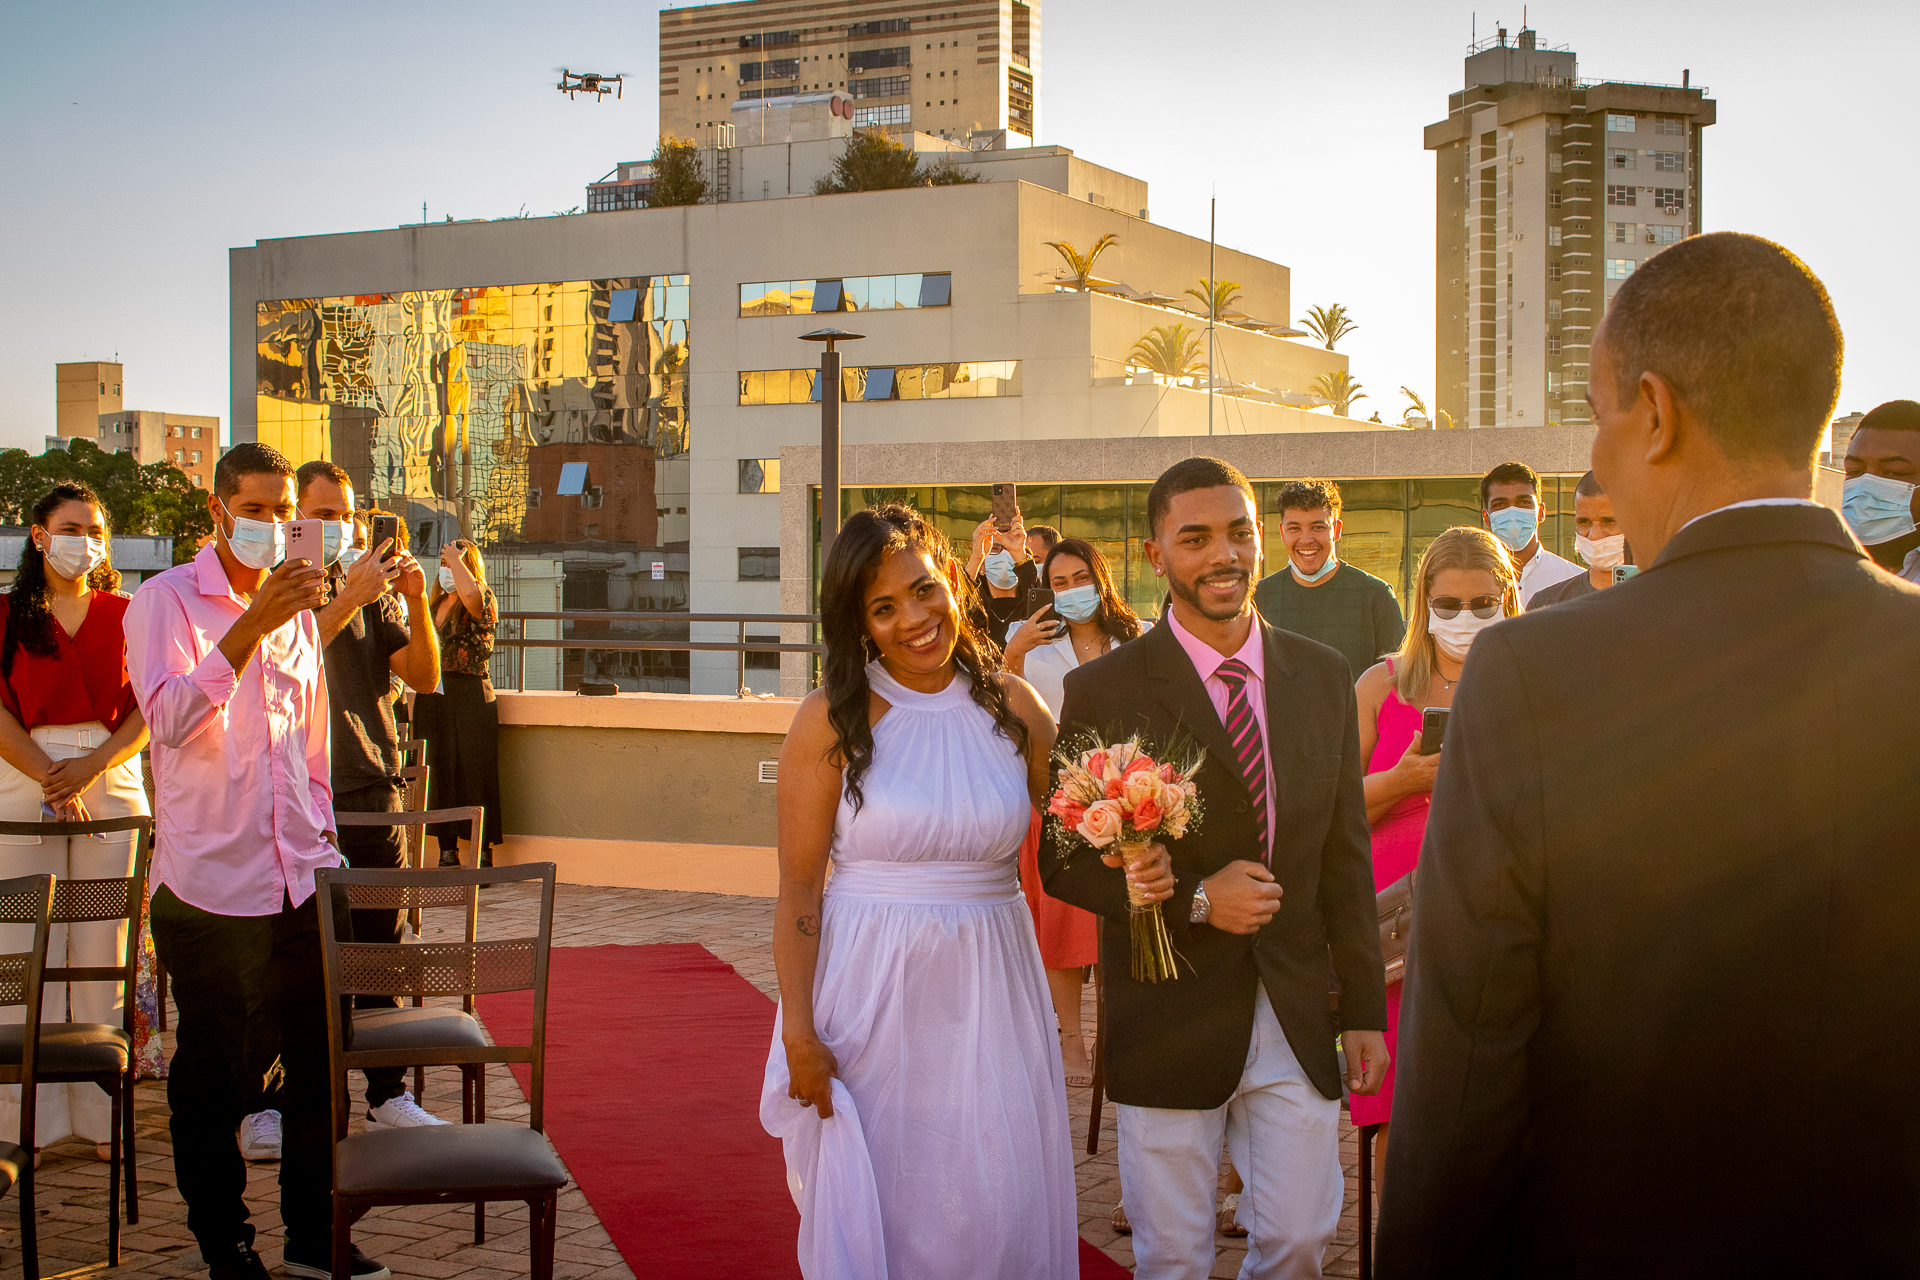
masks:
<path fill-rule="evenodd" d="M 351 1222 L 372 1205 L 474 1207 L 474 1244 L 484 1240 L 486 1205 L 522 1199 L 530 1213 L 534 1280 L 553 1280 L 553 1238 L 559 1192 L 566 1167 L 541 1132 L 547 1067 L 547 956 L 553 946 L 553 864 L 515 867 L 445 867 L 430 871 L 317 873 L 321 944 L 326 969 L 328 1067 L 334 1082 L 334 1280 L 348 1280 Z M 476 902 L 486 885 L 540 883 L 540 927 L 530 938 L 486 942 L 342 942 L 346 910 L 445 906 L 455 898 Z M 338 894 L 338 900 L 336 900 Z M 474 919 L 476 906 L 468 906 Z M 371 1048 L 361 1023 L 342 1017 L 348 996 L 461 996 L 470 1007 L 484 992 L 532 990 L 534 1019 L 528 1044 L 445 1044 L 422 1048 Z M 415 1013 L 417 1009 L 399 1009 Z M 432 1125 L 378 1128 L 348 1134 L 348 1073 L 367 1067 L 411 1067 L 430 1054 L 428 1065 L 480 1067 L 528 1063 L 528 1126 Z"/>

